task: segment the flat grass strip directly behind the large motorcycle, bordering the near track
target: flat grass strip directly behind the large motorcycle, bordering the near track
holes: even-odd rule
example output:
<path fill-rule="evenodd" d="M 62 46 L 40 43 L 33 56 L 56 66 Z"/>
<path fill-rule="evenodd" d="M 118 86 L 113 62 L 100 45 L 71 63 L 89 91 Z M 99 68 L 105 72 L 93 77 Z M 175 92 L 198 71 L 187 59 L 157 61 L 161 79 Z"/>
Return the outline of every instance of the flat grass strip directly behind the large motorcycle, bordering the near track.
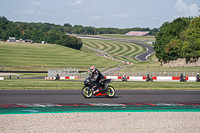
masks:
<path fill-rule="evenodd" d="M 112 82 L 116 90 L 200 90 L 200 82 Z M 82 89 L 81 81 L 7 79 L 0 89 Z"/>

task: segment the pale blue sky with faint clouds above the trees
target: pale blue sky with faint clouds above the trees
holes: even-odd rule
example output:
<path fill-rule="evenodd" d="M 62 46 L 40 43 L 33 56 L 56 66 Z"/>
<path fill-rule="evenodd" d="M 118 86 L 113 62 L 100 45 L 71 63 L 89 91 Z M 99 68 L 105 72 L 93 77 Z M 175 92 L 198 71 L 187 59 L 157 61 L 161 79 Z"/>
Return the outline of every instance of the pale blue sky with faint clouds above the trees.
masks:
<path fill-rule="evenodd" d="M 152 29 L 199 16 L 199 6 L 200 0 L 0 0 L 0 16 L 14 22 Z"/>

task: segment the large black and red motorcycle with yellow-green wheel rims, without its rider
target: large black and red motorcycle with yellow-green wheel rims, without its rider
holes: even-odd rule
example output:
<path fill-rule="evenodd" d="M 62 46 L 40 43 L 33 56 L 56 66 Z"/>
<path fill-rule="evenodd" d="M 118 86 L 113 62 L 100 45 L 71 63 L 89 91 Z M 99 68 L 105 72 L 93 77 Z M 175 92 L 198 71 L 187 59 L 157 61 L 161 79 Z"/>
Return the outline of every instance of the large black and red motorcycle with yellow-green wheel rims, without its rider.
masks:
<path fill-rule="evenodd" d="M 82 95 L 85 98 L 91 98 L 92 96 L 105 96 L 108 98 L 113 98 L 115 96 L 115 89 L 111 85 L 107 85 L 111 83 L 111 79 L 105 79 L 100 82 L 99 92 L 93 94 L 93 84 L 92 79 L 90 77 L 86 78 L 84 81 L 84 87 L 82 88 Z"/>

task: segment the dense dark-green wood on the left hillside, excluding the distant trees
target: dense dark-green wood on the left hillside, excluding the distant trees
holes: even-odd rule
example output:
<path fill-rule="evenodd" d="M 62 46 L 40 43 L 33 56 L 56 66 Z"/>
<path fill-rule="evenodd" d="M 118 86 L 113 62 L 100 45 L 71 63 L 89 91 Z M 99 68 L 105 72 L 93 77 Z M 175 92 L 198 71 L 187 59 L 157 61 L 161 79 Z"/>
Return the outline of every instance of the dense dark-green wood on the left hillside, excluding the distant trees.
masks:
<path fill-rule="evenodd" d="M 60 25 L 49 23 L 12 22 L 0 16 L 0 39 L 6 41 L 9 37 L 16 39 L 31 39 L 35 43 L 45 41 L 80 50 L 82 41 L 74 36 L 68 36 Z"/>

